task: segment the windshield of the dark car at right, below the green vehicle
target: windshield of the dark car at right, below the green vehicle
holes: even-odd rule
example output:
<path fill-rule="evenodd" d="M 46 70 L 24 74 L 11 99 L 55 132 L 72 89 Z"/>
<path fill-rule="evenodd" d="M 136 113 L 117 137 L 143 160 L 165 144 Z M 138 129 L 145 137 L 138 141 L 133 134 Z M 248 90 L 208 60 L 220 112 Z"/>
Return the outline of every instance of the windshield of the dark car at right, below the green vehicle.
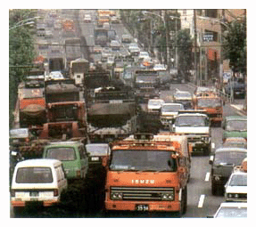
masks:
<path fill-rule="evenodd" d="M 225 165 L 241 165 L 244 158 L 247 157 L 247 152 L 243 151 L 219 151 L 216 152 L 214 158 L 214 164 L 225 166 Z"/>

